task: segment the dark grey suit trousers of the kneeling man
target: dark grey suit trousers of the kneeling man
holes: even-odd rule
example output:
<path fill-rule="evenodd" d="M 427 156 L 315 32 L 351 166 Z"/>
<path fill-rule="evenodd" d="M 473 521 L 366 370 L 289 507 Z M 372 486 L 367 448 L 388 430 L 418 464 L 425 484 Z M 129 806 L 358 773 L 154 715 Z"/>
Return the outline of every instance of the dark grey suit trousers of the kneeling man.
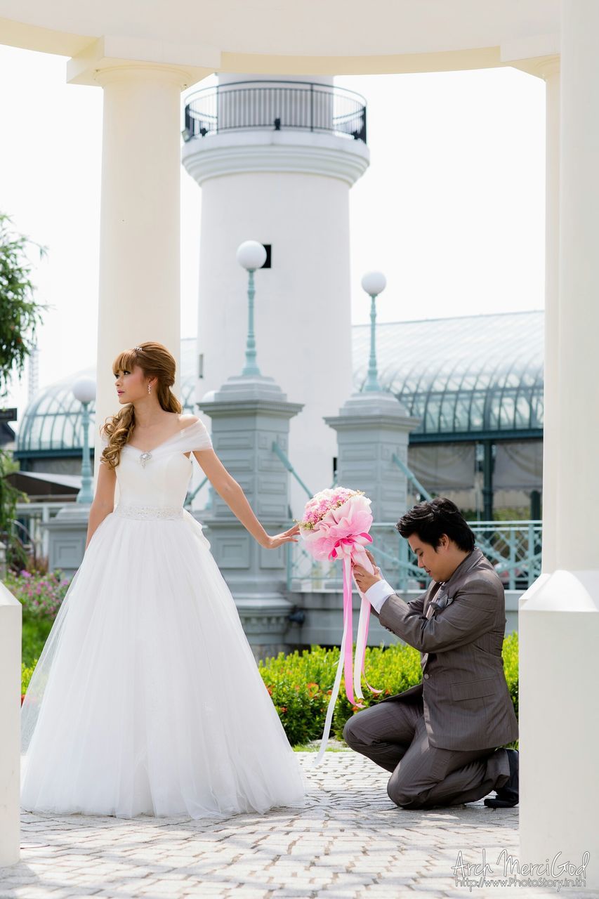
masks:
<path fill-rule="evenodd" d="M 455 750 L 431 746 L 420 701 L 382 702 L 351 717 L 344 740 L 391 772 L 387 792 L 402 808 L 475 802 L 510 776 L 505 749 Z"/>

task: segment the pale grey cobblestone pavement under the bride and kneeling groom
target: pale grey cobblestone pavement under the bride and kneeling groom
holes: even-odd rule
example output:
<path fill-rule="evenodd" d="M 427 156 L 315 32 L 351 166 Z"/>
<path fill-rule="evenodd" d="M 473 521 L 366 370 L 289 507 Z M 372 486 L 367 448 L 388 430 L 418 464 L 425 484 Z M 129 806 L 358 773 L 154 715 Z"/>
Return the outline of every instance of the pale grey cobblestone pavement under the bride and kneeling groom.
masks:
<path fill-rule="evenodd" d="M 0 897 L 590 895 L 499 886 L 499 852 L 518 854 L 517 806 L 493 810 L 481 799 L 407 811 L 389 800 L 387 772 L 355 752 L 327 752 L 317 768 L 314 753 L 298 754 L 310 784 L 301 809 L 226 821 L 23 813 L 22 860 L 0 868 Z M 456 887 L 460 851 L 464 863 L 482 865 L 483 850 L 491 886 Z"/>

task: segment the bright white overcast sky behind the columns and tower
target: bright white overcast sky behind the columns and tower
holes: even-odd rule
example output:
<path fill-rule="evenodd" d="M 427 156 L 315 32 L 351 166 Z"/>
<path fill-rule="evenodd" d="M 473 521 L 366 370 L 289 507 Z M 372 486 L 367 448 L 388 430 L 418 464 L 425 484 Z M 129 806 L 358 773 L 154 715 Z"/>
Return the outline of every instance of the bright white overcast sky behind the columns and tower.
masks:
<path fill-rule="evenodd" d="M 38 333 L 40 387 L 85 368 L 96 351 L 103 95 L 67 85 L 66 62 L 0 46 L 0 209 L 49 248 L 33 276 L 38 301 L 54 307 Z M 368 321 L 360 279 L 371 269 L 387 275 L 380 321 L 541 308 L 541 79 L 498 68 L 335 83 L 368 102 L 371 167 L 350 193 L 353 322 Z M 182 336 L 189 337 L 201 189 L 183 168 L 181 182 Z M 20 420 L 26 402 L 25 372 L 6 405 L 18 406 Z"/>

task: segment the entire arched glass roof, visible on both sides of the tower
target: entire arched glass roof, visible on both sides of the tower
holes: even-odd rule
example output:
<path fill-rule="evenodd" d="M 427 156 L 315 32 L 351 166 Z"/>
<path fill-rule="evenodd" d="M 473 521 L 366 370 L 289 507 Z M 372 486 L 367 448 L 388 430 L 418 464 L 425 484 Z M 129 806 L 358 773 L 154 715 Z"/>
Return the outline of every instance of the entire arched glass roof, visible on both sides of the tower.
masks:
<path fill-rule="evenodd" d="M 353 325 L 353 380 L 361 390 L 370 325 Z M 437 318 L 377 325 L 381 387 L 422 419 L 415 434 L 539 430 L 543 423 L 543 313 Z M 194 413 L 196 341 L 181 342 L 183 411 Z M 71 386 L 95 378 L 77 371 L 44 387 L 23 415 L 16 453 L 81 449 L 81 404 Z M 94 403 L 90 405 L 94 434 Z"/>

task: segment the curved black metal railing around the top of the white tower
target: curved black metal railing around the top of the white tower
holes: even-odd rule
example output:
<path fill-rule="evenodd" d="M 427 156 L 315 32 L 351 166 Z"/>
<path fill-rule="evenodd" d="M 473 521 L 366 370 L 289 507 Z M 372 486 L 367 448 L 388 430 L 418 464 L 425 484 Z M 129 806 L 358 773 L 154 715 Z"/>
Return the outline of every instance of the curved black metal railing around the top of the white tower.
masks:
<path fill-rule="evenodd" d="M 343 87 L 278 79 L 205 87 L 185 106 L 185 141 L 243 129 L 319 131 L 366 143 L 366 101 Z"/>

